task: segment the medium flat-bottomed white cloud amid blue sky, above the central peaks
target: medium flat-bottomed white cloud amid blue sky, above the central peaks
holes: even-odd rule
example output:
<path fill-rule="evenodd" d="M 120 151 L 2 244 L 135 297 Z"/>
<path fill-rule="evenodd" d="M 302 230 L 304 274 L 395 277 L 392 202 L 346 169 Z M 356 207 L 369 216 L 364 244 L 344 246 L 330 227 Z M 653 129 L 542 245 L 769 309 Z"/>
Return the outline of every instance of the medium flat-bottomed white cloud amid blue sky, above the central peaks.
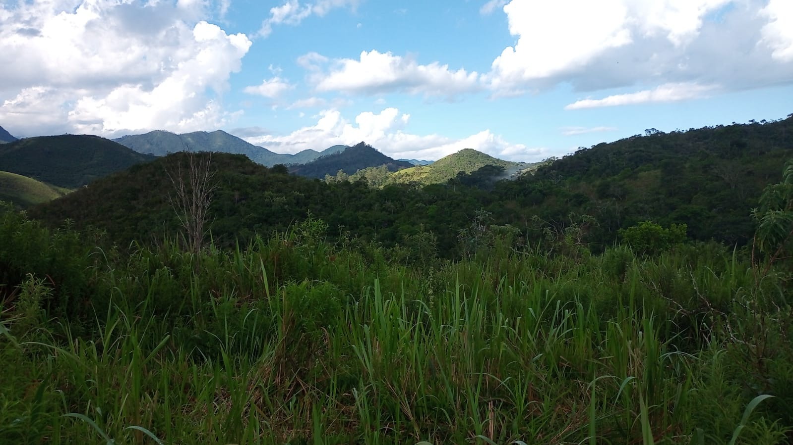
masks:
<path fill-rule="evenodd" d="M 420 65 L 410 56 L 402 57 L 391 52 L 362 51 L 358 60 L 335 60 L 328 72 L 319 67 L 325 62 L 327 59 L 314 53 L 298 59 L 298 63 L 316 71 L 311 80 L 318 91 L 366 94 L 404 91 L 454 97 L 480 88 L 479 74 L 475 71 L 450 70 L 448 65 L 437 62 Z"/>

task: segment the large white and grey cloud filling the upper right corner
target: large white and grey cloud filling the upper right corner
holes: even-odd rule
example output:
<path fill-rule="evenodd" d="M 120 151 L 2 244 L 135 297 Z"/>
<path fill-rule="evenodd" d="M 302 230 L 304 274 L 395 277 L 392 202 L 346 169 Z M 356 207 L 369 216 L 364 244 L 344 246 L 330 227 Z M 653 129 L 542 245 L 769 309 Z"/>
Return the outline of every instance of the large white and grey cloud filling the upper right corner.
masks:
<path fill-rule="evenodd" d="M 482 78 L 496 97 L 562 83 L 739 90 L 793 79 L 788 0 L 511 0 L 504 13 L 516 42 Z"/>

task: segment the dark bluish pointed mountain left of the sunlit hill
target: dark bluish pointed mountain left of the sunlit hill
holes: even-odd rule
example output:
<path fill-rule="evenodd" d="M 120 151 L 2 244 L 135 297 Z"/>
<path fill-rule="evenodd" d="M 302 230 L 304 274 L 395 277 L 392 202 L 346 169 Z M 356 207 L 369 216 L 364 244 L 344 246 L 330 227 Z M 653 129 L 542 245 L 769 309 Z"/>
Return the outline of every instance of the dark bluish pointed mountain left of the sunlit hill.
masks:
<path fill-rule="evenodd" d="M 343 170 L 345 173 L 355 173 L 361 169 L 380 165 L 385 165 L 392 172 L 412 166 L 410 162 L 397 161 L 366 143 L 359 143 L 346 150 L 317 158 L 312 162 L 293 165 L 289 172 L 304 177 L 323 178 L 325 175 L 335 175 L 339 173 L 339 170 Z"/>

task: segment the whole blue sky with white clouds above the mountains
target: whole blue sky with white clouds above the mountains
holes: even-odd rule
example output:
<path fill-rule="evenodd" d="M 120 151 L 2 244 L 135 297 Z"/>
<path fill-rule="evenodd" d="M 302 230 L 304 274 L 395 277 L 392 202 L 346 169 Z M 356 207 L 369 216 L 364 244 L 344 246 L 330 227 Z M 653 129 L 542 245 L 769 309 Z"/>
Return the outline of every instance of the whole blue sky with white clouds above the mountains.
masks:
<path fill-rule="evenodd" d="M 791 0 L 0 0 L 17 137 L 536 162 L 791 113 Z"/>

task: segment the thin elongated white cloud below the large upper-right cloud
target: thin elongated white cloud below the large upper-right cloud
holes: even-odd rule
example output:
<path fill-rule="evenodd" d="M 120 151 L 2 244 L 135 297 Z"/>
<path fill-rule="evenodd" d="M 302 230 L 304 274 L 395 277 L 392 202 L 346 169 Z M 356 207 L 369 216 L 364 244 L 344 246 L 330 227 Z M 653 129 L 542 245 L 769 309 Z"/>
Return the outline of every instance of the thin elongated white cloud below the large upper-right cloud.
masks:
<path fill-rule="evenodd" d="M 717 89 L 716 86 L 696 84 L 667 84 L 656 89 L 645 89 L 636 93 L 615 94 L 603 99 L 583 99 L 565 106 L 566 110 L 582 108 L 615 107 L 618 105 L 636 105 L 649 102 L 676 102 L 705 97 Z"/>

